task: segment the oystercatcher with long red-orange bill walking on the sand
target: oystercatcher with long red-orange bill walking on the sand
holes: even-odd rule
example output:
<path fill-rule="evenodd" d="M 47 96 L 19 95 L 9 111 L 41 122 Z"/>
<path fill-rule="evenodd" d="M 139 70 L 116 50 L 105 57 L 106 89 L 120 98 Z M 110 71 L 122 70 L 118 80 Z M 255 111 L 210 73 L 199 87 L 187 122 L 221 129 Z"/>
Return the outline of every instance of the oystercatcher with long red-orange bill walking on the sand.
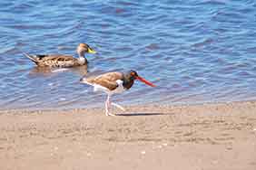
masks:
<path fill-rule="evenodd" d="M 115 116 L 110 113 L 110 106 L 113 105 L 119 109 L 123 109 L 122 106 L 111 102 L 110 98 L 115 93 L 122 93 L 125 90 L 129 90 L 132 88 L 134 80 L 141 80 L 145 84 L 155 87 L 152 82 L 148 80 L 144 80 L 140 77 L 136 71 L 128 71 L 128 72 L 107 72 L 102 75 L 99 75 L 94 78 L 82 78 L 80 81 L 91 86 L 94 86 L 94 91 L 104 91 L 107 93 L 107 99 L 105 101 L 105 115 L 106 116 Z"/>

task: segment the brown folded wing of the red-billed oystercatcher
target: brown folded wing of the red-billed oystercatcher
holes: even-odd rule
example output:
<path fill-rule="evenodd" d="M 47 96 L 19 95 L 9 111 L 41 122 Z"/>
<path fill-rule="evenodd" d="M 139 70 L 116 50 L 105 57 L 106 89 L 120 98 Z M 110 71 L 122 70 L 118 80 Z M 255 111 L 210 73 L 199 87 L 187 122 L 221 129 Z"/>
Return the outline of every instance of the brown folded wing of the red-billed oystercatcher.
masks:
<path fill-rule="evenodd" d="M 107 88 L 108 90 L 115 90 L 118 87 L 116 80 L 122 80 L 123 74 L 120 72 L 108 72 L 104 73 L 95 78 L 88 78 L 86 79 L 87 82 L 92 84 L 98 84 Z"/>

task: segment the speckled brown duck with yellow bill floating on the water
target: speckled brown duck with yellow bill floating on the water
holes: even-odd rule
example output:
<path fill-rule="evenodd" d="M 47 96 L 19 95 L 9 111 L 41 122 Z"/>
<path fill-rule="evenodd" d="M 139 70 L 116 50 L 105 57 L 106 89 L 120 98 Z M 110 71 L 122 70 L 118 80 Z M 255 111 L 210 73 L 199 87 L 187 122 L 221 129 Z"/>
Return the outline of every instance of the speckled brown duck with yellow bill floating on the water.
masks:
<path fill-rule="evenodd" d="M 24 55 L 31 61 L 34 61 L 34 63 L 39 67 L 69 68 L 87 65 L 88 61 L 84 56 L 85 52 L 96 53 L 96 51 L 86 43 L 79 43 L 76 48 L 76 52 L 78 54 L 78 58 L 64 54 L 28 54 L 24 52 Z"/>

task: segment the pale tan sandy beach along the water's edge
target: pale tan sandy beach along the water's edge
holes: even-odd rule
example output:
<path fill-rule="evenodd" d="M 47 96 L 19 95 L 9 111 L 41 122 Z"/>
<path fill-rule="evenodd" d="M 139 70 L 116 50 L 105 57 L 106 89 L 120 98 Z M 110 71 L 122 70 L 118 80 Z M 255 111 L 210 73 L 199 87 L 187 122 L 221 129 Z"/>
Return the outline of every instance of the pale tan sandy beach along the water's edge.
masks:
<path fill-rule="evenodd" d="M 1 111 L 0 169 L 256 169 L 256 102 L 125 113 Z"/>

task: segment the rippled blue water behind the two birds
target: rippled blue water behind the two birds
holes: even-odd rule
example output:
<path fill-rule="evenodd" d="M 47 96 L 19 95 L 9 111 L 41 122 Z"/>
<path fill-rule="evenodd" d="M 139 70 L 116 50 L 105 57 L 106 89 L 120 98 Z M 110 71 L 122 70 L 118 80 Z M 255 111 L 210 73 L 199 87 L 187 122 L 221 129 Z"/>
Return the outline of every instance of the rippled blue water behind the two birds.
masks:
<path fill-rule="evenodd" d="M 22 52 L 74 54 L 88 75 L 130 69 L 123 104 L 256 99 L 256 2 L 252 0 L 0 1 L 0 109 L 103 106 L 105 95 L 78 80 L 85 69 L 42 71 Z"/>

